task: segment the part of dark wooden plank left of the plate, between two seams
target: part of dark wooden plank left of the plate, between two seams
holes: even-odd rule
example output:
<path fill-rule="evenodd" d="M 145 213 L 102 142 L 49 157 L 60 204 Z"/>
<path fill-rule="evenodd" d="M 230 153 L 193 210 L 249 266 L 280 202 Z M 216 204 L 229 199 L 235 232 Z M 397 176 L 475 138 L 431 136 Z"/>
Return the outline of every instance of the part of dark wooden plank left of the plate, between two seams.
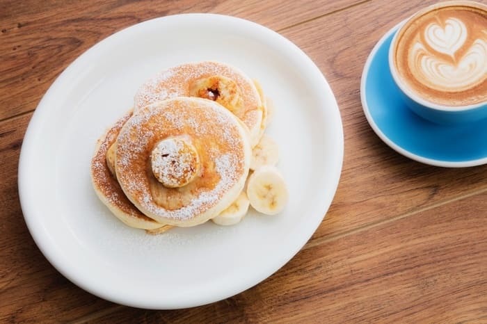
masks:
<path fill-rule="evenodd" d="M 27 230 L 17 195 L 17 163 L 30 118 L 0 124 L 0 323 L 63 322 L 114 305 L 58 273 Z"/>

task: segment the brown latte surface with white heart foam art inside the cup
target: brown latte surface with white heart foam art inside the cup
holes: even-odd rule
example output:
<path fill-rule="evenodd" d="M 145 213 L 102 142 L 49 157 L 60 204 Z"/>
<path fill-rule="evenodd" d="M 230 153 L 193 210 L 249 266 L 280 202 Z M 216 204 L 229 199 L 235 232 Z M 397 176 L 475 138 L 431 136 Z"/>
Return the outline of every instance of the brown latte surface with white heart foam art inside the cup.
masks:
<path fill-rule="evenodd" d="M 447 106 L 487 100 L 487 13 L 447 7 L 416 17 L 396 43 L 397 72 L 420 97 Z"/>

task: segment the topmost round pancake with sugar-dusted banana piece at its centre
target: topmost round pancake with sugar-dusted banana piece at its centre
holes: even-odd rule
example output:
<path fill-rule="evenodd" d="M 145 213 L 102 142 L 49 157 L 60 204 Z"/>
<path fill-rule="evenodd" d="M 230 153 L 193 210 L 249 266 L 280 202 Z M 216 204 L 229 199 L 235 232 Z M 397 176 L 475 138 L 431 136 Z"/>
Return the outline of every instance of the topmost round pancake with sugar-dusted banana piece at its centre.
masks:
<path fill-rule="evenodd" d="M 251 149 L 241 122 L 208 99 L 139 108 L 120 130 L 115 171 L 125 195 L 157 222 L 190 227 L 237 199 Z"/>

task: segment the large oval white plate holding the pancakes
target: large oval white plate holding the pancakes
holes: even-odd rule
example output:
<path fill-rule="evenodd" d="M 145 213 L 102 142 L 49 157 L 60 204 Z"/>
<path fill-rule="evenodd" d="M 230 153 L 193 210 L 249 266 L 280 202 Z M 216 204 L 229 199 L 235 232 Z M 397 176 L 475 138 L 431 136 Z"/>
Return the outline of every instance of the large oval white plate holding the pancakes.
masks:
<path fill-rule="evenodd" d="M 149 236 L 115 219 L 90 184 L 97 138 L 131 107 L 150 76 L 179 63 L 219 60 L 258 79 L 276 106 L 268 133 L 290 201 L 278 216 L 250 213 Z M 19 162 L 19 195 L 45 257 L 86 291 L 134 307 L 215 302 L 254 286 L 312 236 L 335 195 L 343 131 L 319 69 L 269 29 L 222 15 L 175 15 L 124 29 L 86 51 L 42 98 Z"/>

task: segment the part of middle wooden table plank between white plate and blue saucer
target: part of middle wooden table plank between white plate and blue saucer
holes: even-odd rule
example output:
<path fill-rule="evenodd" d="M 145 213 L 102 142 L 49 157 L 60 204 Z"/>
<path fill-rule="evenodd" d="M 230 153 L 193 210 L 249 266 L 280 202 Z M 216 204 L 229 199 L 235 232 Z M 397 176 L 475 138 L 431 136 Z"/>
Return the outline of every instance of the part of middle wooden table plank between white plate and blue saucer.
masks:
<path fill-rule="evenodd" d="M 360 77 L 372 47 L 417 8 L 434 2 L 371 1 L 282 31 L 324 72 L 344 124 L 340 186 L 314 237 L 340 235 L 487 188 L 487 165 L 452 169 L 411 161 L 385 145 L 362 112 Z"/>

